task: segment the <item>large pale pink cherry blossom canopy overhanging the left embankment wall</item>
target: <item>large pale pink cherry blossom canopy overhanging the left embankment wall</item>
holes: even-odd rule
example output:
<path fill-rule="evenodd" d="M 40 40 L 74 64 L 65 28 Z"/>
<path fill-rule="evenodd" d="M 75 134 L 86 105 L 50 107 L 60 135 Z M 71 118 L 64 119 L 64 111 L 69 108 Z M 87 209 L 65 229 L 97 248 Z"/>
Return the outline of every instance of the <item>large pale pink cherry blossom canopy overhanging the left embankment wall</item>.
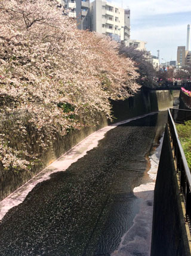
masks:
<path fill-rule="evenodd" d="M 0 113 L 27 110 L 42 149 L 56 133 L 97 124 L 98 116 L 112 118 L 109 100 L 124 100 L 139 88 L 134 62 L 118 55 L 118 44 L 78 30 L 56 5 L 48 0 L 0 1 Z M 38 156 L 26 145 L 21 120 L 14 131 L 23 149 L 8 143 L 13 137 L 2 131 L 1 162 L 5 168 L 27 168 Z"/>

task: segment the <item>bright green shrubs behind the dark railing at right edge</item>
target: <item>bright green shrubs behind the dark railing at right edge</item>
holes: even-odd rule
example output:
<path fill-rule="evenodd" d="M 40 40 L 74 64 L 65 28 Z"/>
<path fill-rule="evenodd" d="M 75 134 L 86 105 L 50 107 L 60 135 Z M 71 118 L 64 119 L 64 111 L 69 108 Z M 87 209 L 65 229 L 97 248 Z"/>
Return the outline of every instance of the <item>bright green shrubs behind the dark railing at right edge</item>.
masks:
<path fill-rule="evenodd" d="M 187 164 L 191 170 L 191 121 L 185 122 L 184 125 L 176 125 L 176 127 L 186 156 Z"/>

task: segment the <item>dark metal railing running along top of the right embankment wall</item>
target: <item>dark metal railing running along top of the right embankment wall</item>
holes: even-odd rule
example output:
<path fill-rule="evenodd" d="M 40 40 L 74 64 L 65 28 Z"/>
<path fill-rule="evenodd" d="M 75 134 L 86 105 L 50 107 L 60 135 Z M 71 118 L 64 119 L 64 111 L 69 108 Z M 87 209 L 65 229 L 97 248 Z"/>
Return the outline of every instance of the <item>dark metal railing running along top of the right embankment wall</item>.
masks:
<path fill-rule="evenodd" d="M 177 165 L 177 173 L 180 176 L 180 191 L 183 194 L 186 208 L 185 220 L 189 223 L 189 227 L 191 227 L 191 174 L 172 116 L 175 116 L 174 109 L 168 109 L 168 125 L 170 128 L 172 147 L 174 149 L 174 159 Z"/>

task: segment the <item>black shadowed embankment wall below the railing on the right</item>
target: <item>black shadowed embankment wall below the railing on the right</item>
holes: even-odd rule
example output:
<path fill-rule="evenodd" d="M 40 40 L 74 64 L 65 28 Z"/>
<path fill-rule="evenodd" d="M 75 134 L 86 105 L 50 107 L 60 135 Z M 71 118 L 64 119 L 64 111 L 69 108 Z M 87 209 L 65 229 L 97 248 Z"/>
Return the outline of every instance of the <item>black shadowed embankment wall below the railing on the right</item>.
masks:
<path fill-rule="evenodd" d="M 168 127 L 155 185 L 151 247 L 151 256 L 162 255 L 190 255 Z"/>

